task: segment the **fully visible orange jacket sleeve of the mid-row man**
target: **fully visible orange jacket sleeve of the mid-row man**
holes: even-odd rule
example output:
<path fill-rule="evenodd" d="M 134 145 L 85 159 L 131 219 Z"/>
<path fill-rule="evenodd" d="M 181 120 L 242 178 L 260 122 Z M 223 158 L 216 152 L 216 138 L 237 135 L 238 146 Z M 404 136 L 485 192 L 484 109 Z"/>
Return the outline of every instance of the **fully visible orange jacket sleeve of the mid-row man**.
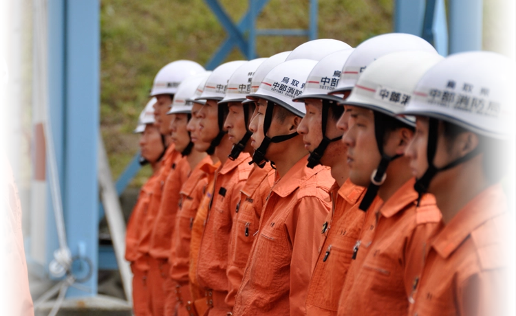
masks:
<path fill-rule="evenodd" d="M 321 231 L 330 212 L 330 203 L 314 196 L 302 198 L 286 219 L 291 242 L 290 315 L 306 315 L 306 295 L 312 271 L 319 256 Z"/>

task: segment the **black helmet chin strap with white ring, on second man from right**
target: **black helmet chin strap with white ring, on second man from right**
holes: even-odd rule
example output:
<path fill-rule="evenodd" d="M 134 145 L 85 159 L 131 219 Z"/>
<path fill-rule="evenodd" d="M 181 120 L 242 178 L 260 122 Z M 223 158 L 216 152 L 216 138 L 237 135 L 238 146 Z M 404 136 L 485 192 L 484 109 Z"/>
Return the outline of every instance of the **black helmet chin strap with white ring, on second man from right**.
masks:
<path fill-rule="evenodd" d="M 373 171 L 373 173 L 371 174 L 371 182 L 367 186 L 367 191 L 365 192 L 362 202 L 360 203 L 360 205 L 358 205 L 358 208 L 363 210 L 364 212 L 367 212 L 367 210 L 373 203 L 373 200 L 376 197 L 376 194 L 378 194 L 378 189 L 380 188 L 380 185 L 382 185 L 385 182 L 385 179 L 387 179 L 387 174 L 385 174 L 385 172 L 387 171 L 387 167 L 389 166 L 389 163 L 391 161 L 393 161 L 394 159 L 398 159 L 399 157 L 402 156 L 402 155 L 394 155 L 394 156 L 385 155 L 385 153 L 383 151 L 383 138 L 385 136 L 385 121 L 383 120 L 383 117 L 381 117 L 380 114 L 376 111 L 374 111 L 374 136 L 376 138 L 376 146 L 378 147 L 378 151 L 380 152 L 382 159 L 380 160 L 380 163 L 378 164 L 378 168 L 376 168 Z"/>

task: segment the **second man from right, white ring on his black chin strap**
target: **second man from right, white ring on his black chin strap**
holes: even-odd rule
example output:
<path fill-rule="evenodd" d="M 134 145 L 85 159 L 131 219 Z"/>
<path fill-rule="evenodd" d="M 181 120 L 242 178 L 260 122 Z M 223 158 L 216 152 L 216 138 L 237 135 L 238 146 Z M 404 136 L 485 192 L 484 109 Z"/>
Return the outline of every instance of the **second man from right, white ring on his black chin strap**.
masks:
<path fill-rule="evenodd" d="M 347 59 L 360 52 L 360 45 Z M 436 52 L 395 52 L 367 65 L 351 95 L 348 146 L 350 179 L 367 187 L 359 205 L 366 210 L 361 238 L 353 249 L 338 315 L 405 315 L 422 267 L 424 243 L 436 232 L 440 212 L 433 196 L 413 190 L 403 155 L 413 135 L 411 118 L 396 116 L 417 80 L 442 57 Z M 372 206 L 374 197 L 383 203 Z M 373 207 L 373 208 L 372 208 Z M 372 216 L 369 216 L 372 215 Z"/>

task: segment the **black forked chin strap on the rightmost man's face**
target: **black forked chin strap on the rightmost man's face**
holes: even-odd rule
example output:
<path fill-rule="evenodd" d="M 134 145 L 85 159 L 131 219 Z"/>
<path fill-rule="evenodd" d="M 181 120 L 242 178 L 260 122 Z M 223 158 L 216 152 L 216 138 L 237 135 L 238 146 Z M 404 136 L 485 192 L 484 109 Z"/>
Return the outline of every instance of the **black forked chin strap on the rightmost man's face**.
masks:
<path fill-rule="evenodd" d="M 421 197 L 423 194 L 428 192 L 428 187 L 430 185 L 430 182 L 432 181 L 433 177 L 438 174 L 438 172 L 451 169 L 455 166 L 458 166 L 460 163 L 464 163 L 473 157 L 480 155 L 482 151 L 484 150 L 484 146 L 482 144 L 482 139 L 480 140 L 479 144 L 475 149 L 471 150 L 471 152 L 467 153 L 466 155 L 455 159 L 454 161 L 451 161 L 451 163 L 448 163 L 446 166 L 442 168 L 437 168 L 433 164 L 433 159 L 436 157 L 437 152 L 437 139 L 438 139 L 438 120 L 435 118 L 429 119 L 429 130 L 428 130 L 428 141 L 427 141 L 427 161 L 428 161 L 428 169 L 424 172 L 422 177 L 420 179 L 416 180 L 416 183 L 414 184 L 414 190 L 418 192 L 418 205 L 421 201 Z"/>

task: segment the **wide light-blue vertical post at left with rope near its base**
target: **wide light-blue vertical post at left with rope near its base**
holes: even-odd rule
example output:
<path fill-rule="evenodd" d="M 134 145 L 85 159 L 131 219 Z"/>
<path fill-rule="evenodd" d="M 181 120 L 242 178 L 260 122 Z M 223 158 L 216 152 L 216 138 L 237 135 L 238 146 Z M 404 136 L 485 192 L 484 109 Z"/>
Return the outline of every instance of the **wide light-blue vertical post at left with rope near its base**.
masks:
<path fill-rule="evenodd" d="M 90 293 L 70 288 L 67 297 L 94 296 L 98 278 L 98 133 L 100 100 L 100 3 L 67 0 L 65 225 L 72 256 L 89 259 L 92 275 L 84 285 Z M 87 264 L 72 267 L 85 275 Z"/>

